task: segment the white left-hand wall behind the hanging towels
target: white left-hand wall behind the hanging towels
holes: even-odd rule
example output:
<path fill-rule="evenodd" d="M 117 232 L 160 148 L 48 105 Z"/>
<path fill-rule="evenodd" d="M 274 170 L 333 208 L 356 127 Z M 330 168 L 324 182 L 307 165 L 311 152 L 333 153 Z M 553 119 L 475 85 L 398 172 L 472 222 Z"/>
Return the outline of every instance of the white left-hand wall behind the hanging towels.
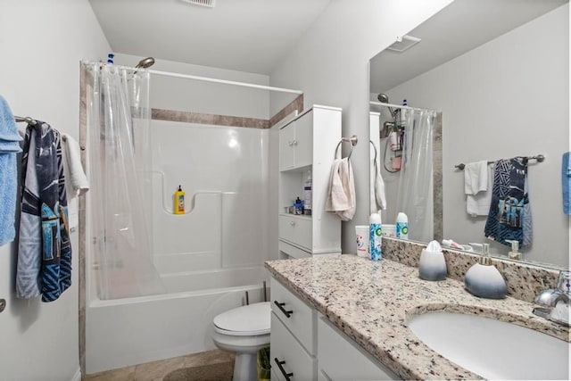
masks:
<path fill-rule="evenodd" d="M 0 11 L 0 93 L 12 112 L 46 120 L 79 137 L 79 61 L 109 45 L 87 0 L 4 0 Z M 20 126 L 21 128 L 24 125 Z M 55 302 L 14 296 L 14 244 L 0 247 L 0 378 L 79 377 L 78 236 L 72 234 L 72 286 Z"/>

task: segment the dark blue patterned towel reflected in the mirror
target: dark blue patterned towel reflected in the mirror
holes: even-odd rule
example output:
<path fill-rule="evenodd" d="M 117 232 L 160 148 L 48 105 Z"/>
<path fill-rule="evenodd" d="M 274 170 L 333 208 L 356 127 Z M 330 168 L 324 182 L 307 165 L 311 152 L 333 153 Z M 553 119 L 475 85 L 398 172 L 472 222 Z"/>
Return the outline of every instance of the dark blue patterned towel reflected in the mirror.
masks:
<path fill-rule="evenodd" d="M 520 247 L 532 244 L 532 213 L 527 195 L 527 158 L 499 160 L 493 174 L 492 203 L 485 223 L 488 238 Z"/>

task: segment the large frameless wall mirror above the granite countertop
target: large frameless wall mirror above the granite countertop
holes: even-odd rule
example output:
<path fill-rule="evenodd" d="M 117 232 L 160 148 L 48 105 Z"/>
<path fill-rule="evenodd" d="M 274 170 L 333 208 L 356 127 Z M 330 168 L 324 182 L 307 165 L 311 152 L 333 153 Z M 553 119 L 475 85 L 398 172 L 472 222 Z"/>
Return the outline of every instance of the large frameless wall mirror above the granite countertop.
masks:
<path fill-rule="evenodd" d="M 468 214 L 465 172 L 456 166 L 544 155 L 544 162 L 528 162 L 533 244 L 520 252 L 523 261 L 567 268 L 561 156 L 569 151 L 568 1 L 455 0 L 407 36 L 421 40 L 402 53 L 385 49 L 369 64 L 370 112 L 379 115 L 371 139 L 378 155 L 385 154 L 383 127 L 393 116 L 377 95 L 442 112 L 442 177 L 434 173 L 434 207 L 442 205 L 443 238 L 489 243 L 492 255 L 504 257 L 509 246 L 484 236 L 487 213 Z M 381 173 L 389 204 L 383 222 L 393 223 L 399 174 L 383 165 Z"/>

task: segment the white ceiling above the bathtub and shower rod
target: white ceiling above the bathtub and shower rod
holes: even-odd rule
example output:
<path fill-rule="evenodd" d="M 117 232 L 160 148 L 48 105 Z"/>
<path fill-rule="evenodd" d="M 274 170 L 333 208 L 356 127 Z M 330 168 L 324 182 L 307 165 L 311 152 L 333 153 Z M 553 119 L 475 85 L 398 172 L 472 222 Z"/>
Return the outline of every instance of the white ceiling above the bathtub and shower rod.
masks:
<path fill-rule="evenodd" d="M 330 0 L 89 0 L 113 52 L 268 75 Z"/>

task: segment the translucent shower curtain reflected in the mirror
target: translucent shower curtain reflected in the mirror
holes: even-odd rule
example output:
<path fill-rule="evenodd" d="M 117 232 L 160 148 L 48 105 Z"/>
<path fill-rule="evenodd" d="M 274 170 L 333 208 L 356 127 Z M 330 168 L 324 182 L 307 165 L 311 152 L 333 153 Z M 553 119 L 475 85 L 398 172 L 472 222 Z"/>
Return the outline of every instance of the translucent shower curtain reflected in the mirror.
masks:
<path fill-rule="evenodd" d="M 409 218 L 409 239 L 434 239 L 433 140 L 437 113 L 401 109 L 404 121 L 397 211 Z"/>

